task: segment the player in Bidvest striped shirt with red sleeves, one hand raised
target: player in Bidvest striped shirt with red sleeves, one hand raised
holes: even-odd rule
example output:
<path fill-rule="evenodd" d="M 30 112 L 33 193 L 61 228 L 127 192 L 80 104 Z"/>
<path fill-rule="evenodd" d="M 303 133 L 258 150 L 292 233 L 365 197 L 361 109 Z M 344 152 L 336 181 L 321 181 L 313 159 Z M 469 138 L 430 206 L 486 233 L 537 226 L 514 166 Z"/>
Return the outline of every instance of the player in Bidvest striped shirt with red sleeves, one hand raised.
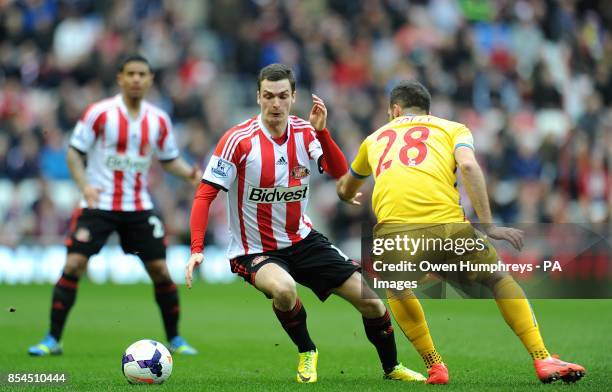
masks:
<path fill-rule="evenodd" d="M 425 378 L 397 361 L 389 312 L 369 289 L 363 292 L 359 266 L 312 228 L 306 216 L 311 163 L 334 178 L 348 170 L 342 151 L 325 128 L 327 110 L 313 95 L 309 121 L 290 116 L 295 78 L 290 68 L 272 64 L 259 74 L 261 113 L 228 130 L 204 171 L 191 213 L 187 285 L 202 263 L 210 203 L 228 193 L 232 271 L 272 299 L 281 325 L 299 352 L 297 381 L 317 381 L 318 351 L 306 327 L 306 310 L 296 282 L 321 301 L 337 294 L 363 315 L 366 335 L 376 347 L 385 377 Z"/>

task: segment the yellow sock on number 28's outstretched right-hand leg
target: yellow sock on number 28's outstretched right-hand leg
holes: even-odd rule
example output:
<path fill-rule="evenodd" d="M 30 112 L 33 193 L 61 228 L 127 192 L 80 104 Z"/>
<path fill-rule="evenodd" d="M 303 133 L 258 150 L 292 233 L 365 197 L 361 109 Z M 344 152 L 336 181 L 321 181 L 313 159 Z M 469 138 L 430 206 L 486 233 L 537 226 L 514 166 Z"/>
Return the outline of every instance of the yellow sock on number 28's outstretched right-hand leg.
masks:
<path fill-rule="evenodd" d="M 493 294 L 506 323 L 521 339 L 531 357 L 547 358 L 549 354 L 540 335 L 538 322 L 518 283 L 511 276 L 506 276 L 495 284 Z"/>

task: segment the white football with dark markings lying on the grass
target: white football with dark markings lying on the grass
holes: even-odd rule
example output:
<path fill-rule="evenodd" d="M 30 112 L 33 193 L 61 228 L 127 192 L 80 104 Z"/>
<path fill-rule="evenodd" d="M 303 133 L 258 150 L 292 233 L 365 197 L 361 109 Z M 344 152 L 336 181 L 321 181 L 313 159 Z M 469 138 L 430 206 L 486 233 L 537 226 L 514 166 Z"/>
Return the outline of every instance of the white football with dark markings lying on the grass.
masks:
<path fill-rule="evenodd" d="M 155 340 L 139 340 L 123 353 L 121 369 L 130 384 L 161 384 L 172 374 L 172 355 Z"/>

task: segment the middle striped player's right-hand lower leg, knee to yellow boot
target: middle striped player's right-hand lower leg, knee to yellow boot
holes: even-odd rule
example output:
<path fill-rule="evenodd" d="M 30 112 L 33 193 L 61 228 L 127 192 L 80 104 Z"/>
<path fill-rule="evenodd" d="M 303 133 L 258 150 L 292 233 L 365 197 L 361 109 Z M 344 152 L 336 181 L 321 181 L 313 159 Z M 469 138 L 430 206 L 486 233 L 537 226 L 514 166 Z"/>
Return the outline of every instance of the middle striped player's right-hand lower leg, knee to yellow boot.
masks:
<path fill-rule="evenodd" d="M 385 378 L 400 381 L 425 381 L 423 375 L 398 362 L 391 316 L 376 293 L 362 284 L 359 272 L 354 272 L 333 292 L 350 302 L 361 313 L 366 336 L 376 347 Z"/>

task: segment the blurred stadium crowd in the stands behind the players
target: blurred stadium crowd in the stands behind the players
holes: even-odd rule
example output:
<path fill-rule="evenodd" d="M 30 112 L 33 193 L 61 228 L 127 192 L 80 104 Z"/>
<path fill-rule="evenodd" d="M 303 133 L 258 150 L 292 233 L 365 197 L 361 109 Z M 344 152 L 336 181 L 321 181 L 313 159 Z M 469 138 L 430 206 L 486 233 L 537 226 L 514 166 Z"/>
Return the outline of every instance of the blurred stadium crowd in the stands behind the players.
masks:
<path fill-rule="evenodd" d="M 387 119 L 389 89 L 418 78 L 432 113 L 475 137 L 498 221 L 610 225 L 612 8 L 572 0 L 0 1 L 0 245 L 59 243 L 78 191 L 65 153 L 86 106 L 117 91 L 116 64 L 154 67 L 148 99 L 166 109 L 190 162 L 204 167 L 232 124 L 258 112 L 272 62 L 329 109 L 349 161 Z M 171 242 L 188 243 L 193 189 L 153 167 Z M 367 195 L 364 195 L 367 200 Z M 467 200 L 467 198 L 463 198 Z M 343 241 L 369 213 L 337 202 L 323 176 L 309 215 Z M 472 216 L 469 205 L 464 206 Z M 225 202 L 208 243 L 224 246 Z"/>

